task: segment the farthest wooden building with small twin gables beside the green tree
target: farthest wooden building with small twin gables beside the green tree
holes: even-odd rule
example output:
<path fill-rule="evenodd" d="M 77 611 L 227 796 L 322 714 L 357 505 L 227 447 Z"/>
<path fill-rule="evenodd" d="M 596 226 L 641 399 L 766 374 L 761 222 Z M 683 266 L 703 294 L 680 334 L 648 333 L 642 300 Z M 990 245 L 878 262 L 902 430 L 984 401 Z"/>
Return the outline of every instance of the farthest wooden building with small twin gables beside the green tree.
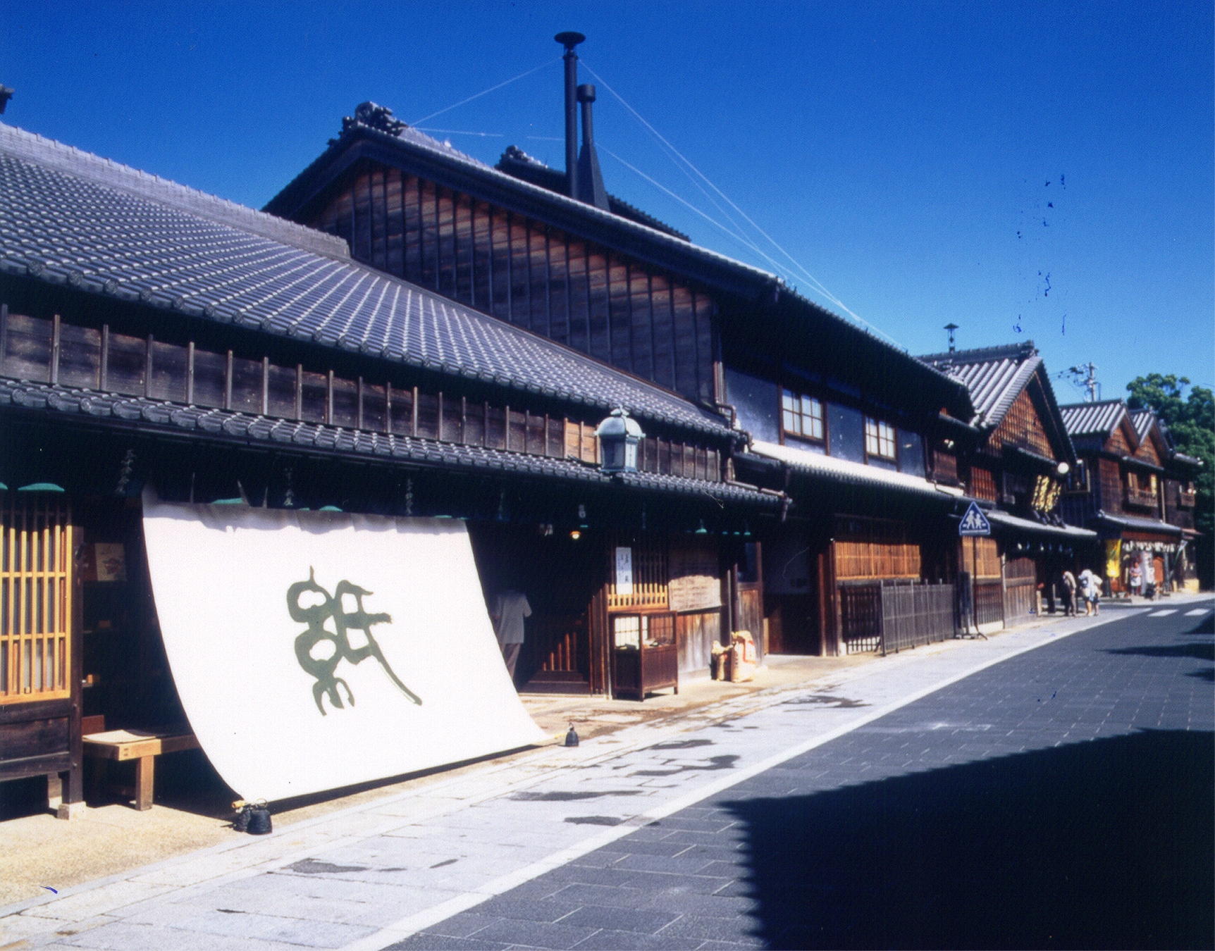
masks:
<path fill-rule="evenodd" d="M 1185 530 L 1165 519 L 1165 463 L 1171 454 L 1154 415 L 1138 426 L 1123 400 L 1062 407 L 1076 451 L 1076 469 L 1063 497 L 1064 517 L 1097 532 L 1098 567 L 1112 594 L 1126 594 L 1132 564 L 1145 582 L 1166 589 L 1183 548 Z M 1145 585 L 1146 587 L 1146 585 Z"/>

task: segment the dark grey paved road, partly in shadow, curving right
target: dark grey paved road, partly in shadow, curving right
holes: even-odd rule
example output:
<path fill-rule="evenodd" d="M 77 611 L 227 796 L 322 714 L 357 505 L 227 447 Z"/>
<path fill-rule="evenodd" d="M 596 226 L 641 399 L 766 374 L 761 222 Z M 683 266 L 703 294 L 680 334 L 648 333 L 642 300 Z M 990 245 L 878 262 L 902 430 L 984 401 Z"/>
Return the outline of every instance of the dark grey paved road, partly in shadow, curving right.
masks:
<path fill-rule="evenodd" d="M 1012 657 L 394 947 L 1215 946 L 1210 607 Z"/>

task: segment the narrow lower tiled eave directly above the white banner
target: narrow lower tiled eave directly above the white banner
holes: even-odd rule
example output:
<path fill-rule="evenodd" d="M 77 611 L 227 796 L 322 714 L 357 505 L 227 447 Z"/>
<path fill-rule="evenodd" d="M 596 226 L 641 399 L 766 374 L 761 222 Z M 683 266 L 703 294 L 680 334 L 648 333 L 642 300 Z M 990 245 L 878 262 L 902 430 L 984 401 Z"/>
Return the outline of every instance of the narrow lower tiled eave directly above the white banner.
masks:
<path fill-rule="evenodd" d="M 147 400 L 103 394 L 69 386 L 0 379 L 0 407 L 13 407 L 49 415 L 89 418 L 163 432 L 194 432 L 203 438 L 236 440 L 283 448 L 321 451 L 335 455 L 379 458 L 418 466 L 441 465 L 469 474 L 518 474 L 541 479 L 610 486 L 614 479 L 642 491 L 710 496 L 723 502 L 774 506 L 778 496 L 738 483 L 706 482 L 654 472 L 606 475 L 598 466 L 576 459 L 531 455 L 505 449 L 439 442 L 413 436 L 299 423 L 273 417 L 250 415 L 233 409 L 185 406 L 166 400 Z"/>

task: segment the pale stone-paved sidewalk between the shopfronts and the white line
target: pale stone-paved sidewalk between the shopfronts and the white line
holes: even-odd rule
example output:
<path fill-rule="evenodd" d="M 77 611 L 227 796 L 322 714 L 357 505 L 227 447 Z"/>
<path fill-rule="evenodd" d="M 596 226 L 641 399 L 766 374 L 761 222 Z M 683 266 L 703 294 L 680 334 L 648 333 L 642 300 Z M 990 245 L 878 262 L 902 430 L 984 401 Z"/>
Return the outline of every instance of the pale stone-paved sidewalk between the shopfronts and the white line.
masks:
<path fill-rule="evenodd" d="M 11 908 L 0 946 L 384 947 L 1094 621 L 919 649 L 241 838 Z"/>

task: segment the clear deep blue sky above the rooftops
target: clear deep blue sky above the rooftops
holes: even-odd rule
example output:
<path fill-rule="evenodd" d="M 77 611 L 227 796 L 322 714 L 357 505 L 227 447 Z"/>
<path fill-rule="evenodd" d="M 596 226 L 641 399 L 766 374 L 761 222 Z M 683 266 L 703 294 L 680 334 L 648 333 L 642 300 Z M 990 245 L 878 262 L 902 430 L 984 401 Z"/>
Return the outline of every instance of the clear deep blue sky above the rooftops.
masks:
<path fill-rule="evenodd" d="M 912 352 L 954 322 L 960 347 L 1033 339 L 1052 373 L 1091 360 L 1107 397 L 1149 372 L 1215 383 L 1210 2 L 6 2 L 2 22 L 4 121 L 253 206 L 358 102 L 416 123 L 537 67 L 422 126 L 561 166 L 552 36 L 577 29 L 586 66 Z M 772 270 L 610 154 L 728 223 L 603 85 L 595 135 L 609 191 Z"/>

